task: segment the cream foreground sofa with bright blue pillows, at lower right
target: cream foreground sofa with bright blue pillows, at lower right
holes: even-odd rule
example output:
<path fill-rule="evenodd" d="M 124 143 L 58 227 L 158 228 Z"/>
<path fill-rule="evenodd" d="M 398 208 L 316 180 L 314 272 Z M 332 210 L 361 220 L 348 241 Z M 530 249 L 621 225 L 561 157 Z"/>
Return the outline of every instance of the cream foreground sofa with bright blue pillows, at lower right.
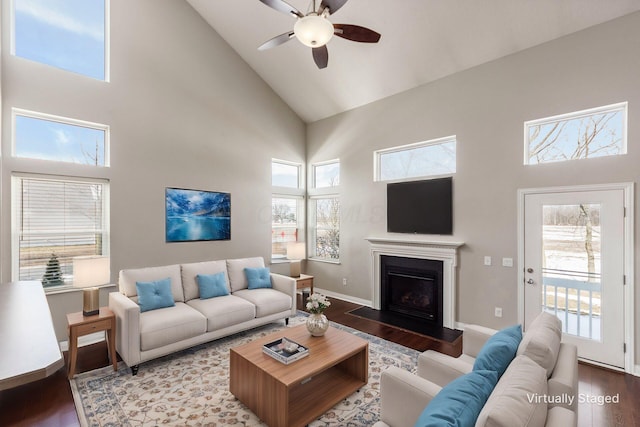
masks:
<path fill-rule="evenodd" d="M 434 425 L 434 416 L 438 425 L 575 426 L 577 349 L 561 343 L 560 321 L 543 312 L 520 339 L 511 339 L 514 331 L 467 325 L 461 356 L 428 350 L 418 357 L 417 375 L 383 372 L 375 427 Z"/>

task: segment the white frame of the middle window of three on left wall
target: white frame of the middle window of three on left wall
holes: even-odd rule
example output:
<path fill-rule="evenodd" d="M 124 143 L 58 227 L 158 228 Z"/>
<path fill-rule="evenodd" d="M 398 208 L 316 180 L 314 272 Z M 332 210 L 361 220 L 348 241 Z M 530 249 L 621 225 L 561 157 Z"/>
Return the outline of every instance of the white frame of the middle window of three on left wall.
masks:
<path fill-rule="evenodd" d="M 42 159 L 42 158 L 36 158 L 36 157 L 17 156 L 16 155 L 16 152 L 17 152 L 16 117 L 17 116 L 103 131 L 104 132 L 104 154 L 103 154 L 104 165 L 92 165 L 89 163 L 76 163 L 76 162 L 69 162 L 66 160 L 51 160 L 51 159 Z M 80 120 L 80 119 L 72 119 L 69 117 L 56 116 L 53 114 L 41 113 L 37 111 L 25 110 L 22 108 L 11 109 L 11 157 L 15 159 L 25 159 L 29 161 L 45 161 L 45 162 L 52 162 L 52 163 L 65 164 L 65 165 L 81 165 L 81 166 L 90 166 L 90 167 L 98 167 L 98 168 L 109 168 L 111 166 L 110 138 L 111 138 L 111 128 L 109 125 L 89 122 L 89 121 Z"/>

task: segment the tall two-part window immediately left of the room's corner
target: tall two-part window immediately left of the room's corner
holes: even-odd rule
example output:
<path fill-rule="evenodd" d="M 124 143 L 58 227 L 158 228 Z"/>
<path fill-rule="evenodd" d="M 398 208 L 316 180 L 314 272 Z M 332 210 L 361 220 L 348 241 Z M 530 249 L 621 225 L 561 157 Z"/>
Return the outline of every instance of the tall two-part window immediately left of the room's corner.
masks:
<path fill-rule="evenodd" d="M 287 257 L 287 243 L 304 236 L 304 189 L 301 188 L 302 165 L 273 160 L 271 162 L 271 259 Z"/>

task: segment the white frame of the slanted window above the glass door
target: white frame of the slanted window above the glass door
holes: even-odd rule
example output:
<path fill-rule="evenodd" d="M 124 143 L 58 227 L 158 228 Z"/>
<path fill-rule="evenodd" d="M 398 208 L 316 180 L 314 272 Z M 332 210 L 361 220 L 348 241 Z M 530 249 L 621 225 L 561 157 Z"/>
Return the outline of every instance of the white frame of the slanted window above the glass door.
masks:
<path fill-rule="evenodd" d="M 620 153 L 606 156 L 594 156 L 594 157 L 580 157 L 576 159 L 566 159 L 566 160 L 553 160 L 547 162 L 536 162 L 531 163 L 530 159 L 530 141 L 529 141 L 529 129 L 534 126 L 544 126 L 550 123 L 556 123 L 561 121 L 570 121 L 570 120 L 579 120 L 581 118 L 594 116 L 597 114 L 605 114 L 620 111 L 622 113 L 622 135 L 620 138 L 622 139 L 620 145 Z M 523 150 L 523 164 L 525 166 L 537 166 L 537 165 L 546 165 L 550 163 L 564 163 L 572 160 L 586 160 L 586 159 L 595 159 L 599 157 L 613 157 L 613 156 L 623 156 L 628 153 L 627 143 L 628 143 L 628 134 L 629 134 L 629 103 L 618 102 L 615 104 L 603 105 L 595 108 L 588 108 L 586 110 L 573 111 L 571 113 L 558 114 L 555 116 L 544 117 L 541 119 L 527 120 L 524 122 L 524 150 Z"/>

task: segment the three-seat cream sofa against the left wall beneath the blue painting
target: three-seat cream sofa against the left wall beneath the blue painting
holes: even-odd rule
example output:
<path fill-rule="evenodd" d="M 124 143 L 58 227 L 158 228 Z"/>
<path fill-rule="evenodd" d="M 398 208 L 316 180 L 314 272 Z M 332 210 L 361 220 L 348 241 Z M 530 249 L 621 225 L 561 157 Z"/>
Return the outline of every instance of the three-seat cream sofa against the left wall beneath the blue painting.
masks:
<path fill-rule="evenodd" d="M 142 362 L 296 315 L 295 279 L 270 274 L 271 288 L 248 289 L 245 268 L 261 257 L 122 270 L 109 294 L 116 316 L 116 349 L 135 375 Z M 196 276 L 224 272 L 229 295 L 200 299 Z M 136 282 L 171 279 L 175 305 L 140 311 Z"/>

